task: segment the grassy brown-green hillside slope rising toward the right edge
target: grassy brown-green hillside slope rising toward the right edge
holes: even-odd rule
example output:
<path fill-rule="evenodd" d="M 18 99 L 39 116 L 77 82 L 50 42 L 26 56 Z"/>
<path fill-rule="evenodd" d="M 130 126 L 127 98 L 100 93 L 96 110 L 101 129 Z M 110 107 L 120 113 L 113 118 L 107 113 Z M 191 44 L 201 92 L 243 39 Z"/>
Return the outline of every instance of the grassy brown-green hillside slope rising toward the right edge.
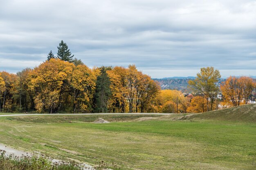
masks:
<path fill-rule="evenodd" d="M 188 115 L 182 119 L 210 119 L 220 121 L 243 121 L 256 123 L 256 104 L 247 104 L 206 113 Z"/>

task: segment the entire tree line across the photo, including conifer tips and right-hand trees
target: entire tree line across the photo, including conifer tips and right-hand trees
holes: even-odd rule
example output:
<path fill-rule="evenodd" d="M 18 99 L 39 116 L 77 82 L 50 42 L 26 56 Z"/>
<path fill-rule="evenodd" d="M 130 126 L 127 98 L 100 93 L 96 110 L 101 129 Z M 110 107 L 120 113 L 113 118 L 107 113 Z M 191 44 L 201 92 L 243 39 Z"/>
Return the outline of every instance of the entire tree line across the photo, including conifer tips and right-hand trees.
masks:
<path fill-rule="evenodd" d="M 213 68 L 201 68 L 189 81 L 189 95 L 162 90 L 135 65 L 89 68 L 72 55 L 63 41 L 55 56 L 17 74 L 0 72 L 0 112 L 38 113 L 201 113 L 255 101 L 256 82 L 229 77 Z M 223 99 L 218 99 L 222 91 Z"/>

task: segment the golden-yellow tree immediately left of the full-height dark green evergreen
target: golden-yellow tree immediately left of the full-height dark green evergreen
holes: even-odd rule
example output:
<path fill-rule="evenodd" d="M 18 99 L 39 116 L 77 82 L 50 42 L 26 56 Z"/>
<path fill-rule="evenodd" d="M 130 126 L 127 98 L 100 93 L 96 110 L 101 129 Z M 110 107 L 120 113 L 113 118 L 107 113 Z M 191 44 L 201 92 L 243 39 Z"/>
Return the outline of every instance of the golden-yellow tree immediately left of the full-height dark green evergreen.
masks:
<path fill-rule="evenodd" d="M 90 68 L 80 64 L 76 66 L 72 72 L 72 79 L 70 82 L 74 103 L 73 103 L 73 113 L 76 112 L 77 106 L 83 111 L 91 110 L 91 102 L 93 98 L 93 93 L 96 86 L 96 75 Z"/>

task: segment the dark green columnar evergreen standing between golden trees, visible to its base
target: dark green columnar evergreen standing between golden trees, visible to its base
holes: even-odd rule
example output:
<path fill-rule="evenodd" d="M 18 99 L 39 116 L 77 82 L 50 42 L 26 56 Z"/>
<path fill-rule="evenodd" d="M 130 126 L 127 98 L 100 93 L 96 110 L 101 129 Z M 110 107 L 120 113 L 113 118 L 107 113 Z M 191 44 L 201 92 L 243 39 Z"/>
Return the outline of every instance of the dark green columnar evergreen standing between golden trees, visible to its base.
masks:
<path fill-rule="evenodd" d="M 102 66 L 100 68 L 100 75 L 97 77 L 96 93 L 94 96 L 94 112 L 107 113 L 108 112 L 108 99 L 111 97 L 110 78 L 108 77 L 107 70 L 111 67 Z"/>

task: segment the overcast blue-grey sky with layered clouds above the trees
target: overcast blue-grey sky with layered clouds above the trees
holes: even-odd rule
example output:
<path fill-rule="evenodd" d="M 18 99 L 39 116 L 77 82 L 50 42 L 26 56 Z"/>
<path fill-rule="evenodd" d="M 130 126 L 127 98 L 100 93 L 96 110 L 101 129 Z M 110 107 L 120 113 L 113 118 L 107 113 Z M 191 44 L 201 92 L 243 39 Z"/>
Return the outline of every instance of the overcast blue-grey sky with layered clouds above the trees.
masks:
<path fill-rule="evenodd" d="M 256 0 L 0 0 L 0 70 L 34 68 L 61 40 L 89 67 L 256 75 Z"/>

